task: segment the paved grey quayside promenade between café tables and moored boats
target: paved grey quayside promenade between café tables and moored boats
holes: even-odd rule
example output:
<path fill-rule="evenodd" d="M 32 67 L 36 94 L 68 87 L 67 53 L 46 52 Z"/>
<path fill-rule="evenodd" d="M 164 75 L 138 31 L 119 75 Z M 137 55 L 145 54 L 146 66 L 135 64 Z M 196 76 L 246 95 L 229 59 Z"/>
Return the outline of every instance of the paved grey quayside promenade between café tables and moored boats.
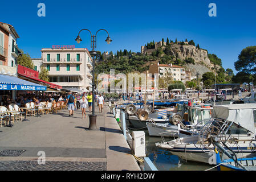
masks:
<path fill-rule="evenodd" d="M 97 115 L 97 129 L 88 130 L 89 117 L 68 110 L 0 128 L 0 170 L 140 170 L 109 108 Z M 45 164 L 38 159 L 46 156 Z M 41 160 L 39 160 L 41 161 Z"/>

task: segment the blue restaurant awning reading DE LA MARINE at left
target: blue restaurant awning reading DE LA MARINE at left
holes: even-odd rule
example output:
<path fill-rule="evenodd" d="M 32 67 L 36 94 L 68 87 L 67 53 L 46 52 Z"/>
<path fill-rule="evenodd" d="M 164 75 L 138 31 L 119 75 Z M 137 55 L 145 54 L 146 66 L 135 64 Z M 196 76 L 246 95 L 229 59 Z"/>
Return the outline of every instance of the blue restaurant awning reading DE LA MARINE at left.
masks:
<path fill-rule="evenodd" d="M 46 86 L 34 84 L 14 76 L 0 75 L 0 90 L 44 91 Z"/>

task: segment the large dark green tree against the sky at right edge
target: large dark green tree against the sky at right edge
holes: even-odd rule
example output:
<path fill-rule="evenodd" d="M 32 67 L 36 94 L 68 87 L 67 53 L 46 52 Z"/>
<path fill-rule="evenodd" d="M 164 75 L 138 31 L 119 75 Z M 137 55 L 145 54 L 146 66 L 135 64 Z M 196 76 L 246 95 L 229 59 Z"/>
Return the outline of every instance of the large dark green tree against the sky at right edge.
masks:
<path fill-rule="evenodd" d="M 246 47 L 242 49 L 238 55 L 238 61 L 234 63 L 235 70 L 250 74 L 256 73 L 256 46 Z"/>

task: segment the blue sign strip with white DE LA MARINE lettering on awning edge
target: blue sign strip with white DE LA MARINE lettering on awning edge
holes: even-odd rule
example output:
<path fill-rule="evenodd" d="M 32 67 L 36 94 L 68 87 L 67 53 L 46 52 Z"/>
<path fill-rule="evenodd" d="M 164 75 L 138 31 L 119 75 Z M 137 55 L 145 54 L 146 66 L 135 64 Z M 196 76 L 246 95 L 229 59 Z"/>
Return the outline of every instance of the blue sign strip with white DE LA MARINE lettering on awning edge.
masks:
<path fill-rule="evenodd" d="M 0 84 L 0 90 L 31 90 L 44 91 L 46 86 L 30 86 L 30 85 L 15 85 L 15 84 Z"/>

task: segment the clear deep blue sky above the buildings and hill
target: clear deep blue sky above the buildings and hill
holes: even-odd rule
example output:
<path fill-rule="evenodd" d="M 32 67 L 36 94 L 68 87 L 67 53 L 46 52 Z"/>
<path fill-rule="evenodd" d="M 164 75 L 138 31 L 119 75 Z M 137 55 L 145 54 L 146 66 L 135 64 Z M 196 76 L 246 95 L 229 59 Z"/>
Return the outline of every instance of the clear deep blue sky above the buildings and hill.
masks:
<path fill-rule="evenodd" d="M 39 17 L 38 3 L 46 5 L 46 17 Z M 209 17 L 209 3 L 216 3 L 217 17 Z M 234 72 L 234 62 L 243 48 L 256 46 L 256 1 L 182 0 L 182 1 L 1 1 L 0 22 L 13 25 L 20 38 L 19 48 L 32 58 L 41 56 L 41 48 L 75 45 L 90 48 L 89 33 L 75 42 L 78 31 L 88 28 L 97 34 L 97 50 L 128 49 L 140 52 L 140 46 L 155 40 L 193 39 L 201 48 L 222 59 L 223 67 Z"/>

